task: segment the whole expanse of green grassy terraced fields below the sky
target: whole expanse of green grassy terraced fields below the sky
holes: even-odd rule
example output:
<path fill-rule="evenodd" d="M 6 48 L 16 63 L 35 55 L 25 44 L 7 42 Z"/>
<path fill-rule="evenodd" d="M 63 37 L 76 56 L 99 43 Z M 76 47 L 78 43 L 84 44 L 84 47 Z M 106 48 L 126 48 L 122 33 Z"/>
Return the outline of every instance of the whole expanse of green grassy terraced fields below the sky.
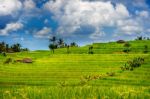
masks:
<path fill-rule="evenodd" d="M 0 55 L 0 99 L 149 99 L 150 41 L 128 43 Z M 14 62 L 24 58 L 33 63 Z"/>

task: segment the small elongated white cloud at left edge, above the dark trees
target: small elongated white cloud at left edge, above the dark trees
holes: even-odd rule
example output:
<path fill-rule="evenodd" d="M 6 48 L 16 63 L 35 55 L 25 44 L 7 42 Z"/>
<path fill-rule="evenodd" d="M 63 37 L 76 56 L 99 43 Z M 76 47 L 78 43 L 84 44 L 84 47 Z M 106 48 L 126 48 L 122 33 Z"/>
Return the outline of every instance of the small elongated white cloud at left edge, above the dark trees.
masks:
<path fill-rule="evenodd" d="M 19 22 L 9 23 L 6 25 L 6 27 L 4 29 L 0 30 L 0 35 L 7 36 L 7 35 L 9 35 L 10 32 L 17 31 L 22 28 L 23 28 L 22 23 L 19 23 Z"/>

